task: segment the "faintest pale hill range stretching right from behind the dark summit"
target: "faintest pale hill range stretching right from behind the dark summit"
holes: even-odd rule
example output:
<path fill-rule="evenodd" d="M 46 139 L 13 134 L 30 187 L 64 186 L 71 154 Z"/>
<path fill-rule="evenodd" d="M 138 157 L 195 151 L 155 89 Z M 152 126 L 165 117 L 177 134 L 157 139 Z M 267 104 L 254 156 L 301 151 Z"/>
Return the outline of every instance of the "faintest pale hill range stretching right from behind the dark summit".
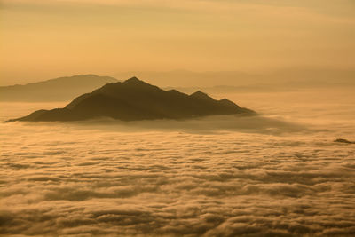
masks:
<path fill-rule="evenodd" d="M 293 91 L 295 89 L 355 86 L 354 68 L 288 67 L 266 72 L 240 71 L 130 71 L 113 76 L 118 80 L 137 75 L 148 83 L 164 88 L 184 88 L 196 85 L 206 91 Z M 194 88 L 195 89 L 195 88 Z"/>

